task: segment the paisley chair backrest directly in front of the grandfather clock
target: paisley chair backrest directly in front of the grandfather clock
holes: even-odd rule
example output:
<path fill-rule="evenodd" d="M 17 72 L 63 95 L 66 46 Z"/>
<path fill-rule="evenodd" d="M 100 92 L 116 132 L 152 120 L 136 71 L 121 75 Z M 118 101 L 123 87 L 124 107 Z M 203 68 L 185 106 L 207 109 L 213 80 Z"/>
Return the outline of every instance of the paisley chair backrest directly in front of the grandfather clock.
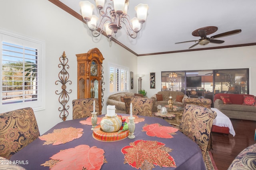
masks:
<path fill-rule="evenodd" d="M 95 101 L 95 112 L 97 112 L 98 115 L 100 111 L 98 98 L 85 98 L 73 100 L 73 119 L 91 117 L 93 112 L 93 101 Z"/>

